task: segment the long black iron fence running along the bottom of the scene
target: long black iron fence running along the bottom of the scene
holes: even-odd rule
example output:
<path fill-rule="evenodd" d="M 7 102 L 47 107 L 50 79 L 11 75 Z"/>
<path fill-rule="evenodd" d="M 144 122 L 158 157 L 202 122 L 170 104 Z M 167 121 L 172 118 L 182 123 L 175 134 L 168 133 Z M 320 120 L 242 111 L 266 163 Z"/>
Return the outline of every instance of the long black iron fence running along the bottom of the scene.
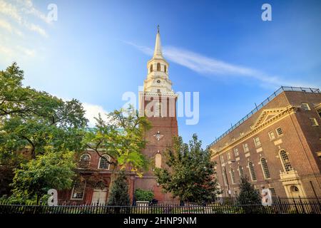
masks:
<path fill-rule="evenodd" d="M 320 199 L 287 199 L 261 204 L 152 204 L 142 206 L 21 205 L 0 203 L 0 214 L 321 214 Z"/>

